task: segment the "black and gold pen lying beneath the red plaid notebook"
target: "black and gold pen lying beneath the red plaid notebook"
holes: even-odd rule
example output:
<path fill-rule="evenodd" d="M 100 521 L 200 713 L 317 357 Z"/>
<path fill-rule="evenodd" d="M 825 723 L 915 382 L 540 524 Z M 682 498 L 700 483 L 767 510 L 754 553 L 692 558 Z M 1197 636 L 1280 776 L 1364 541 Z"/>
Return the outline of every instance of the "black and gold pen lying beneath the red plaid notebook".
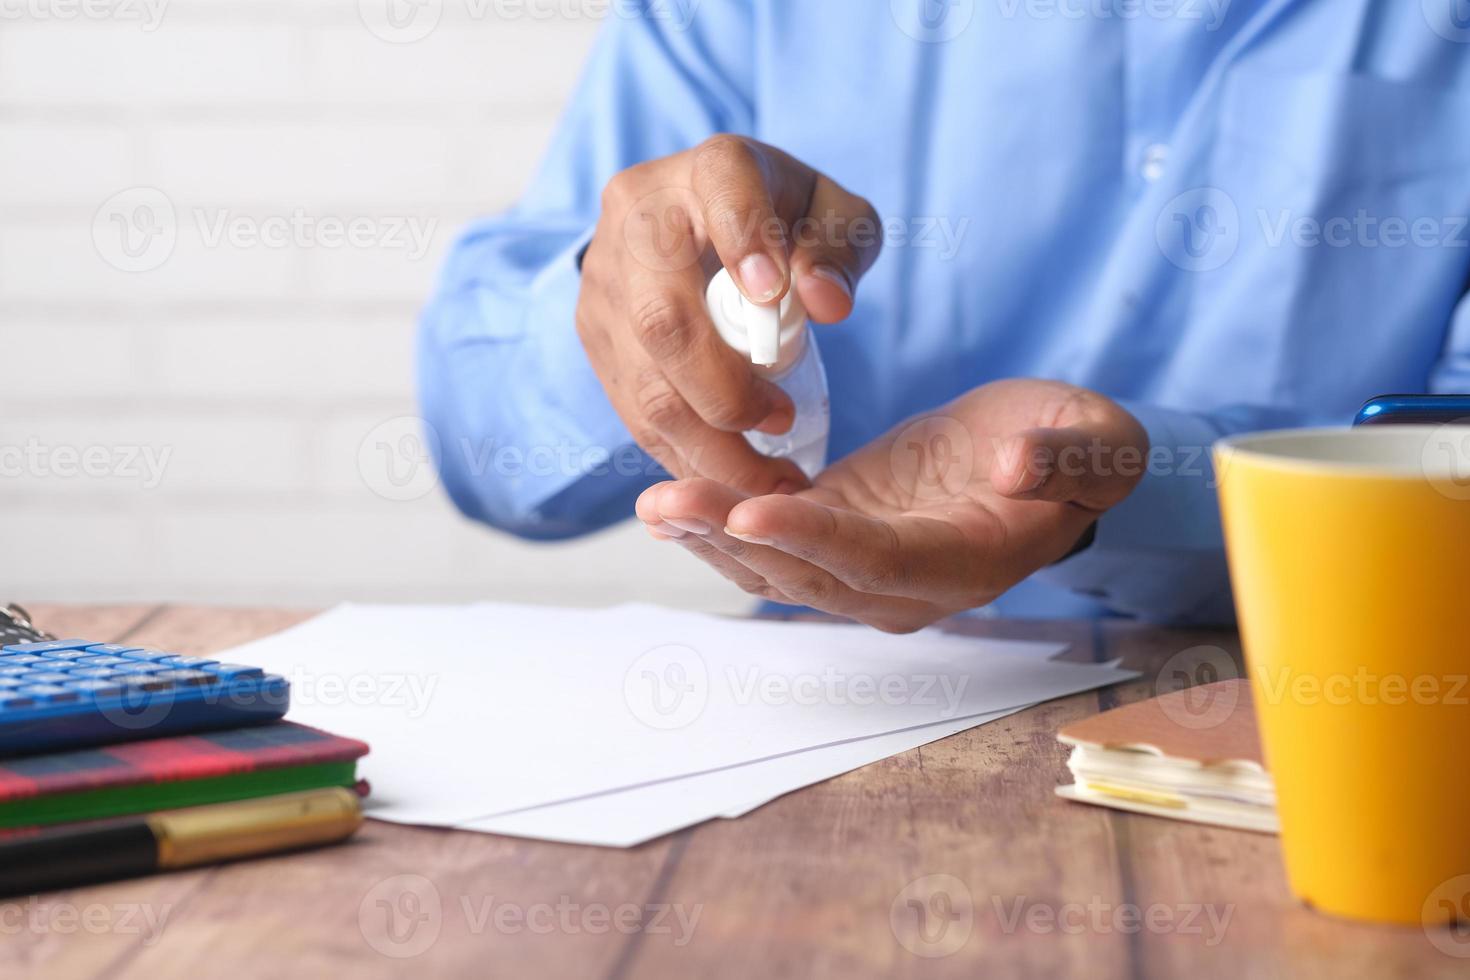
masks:
<path fill-rule="evenodd" d="M 0 895 L 337 843 L 362 823 L 357 793 L 334 786 L 47 829 L 0 840 Z"/>

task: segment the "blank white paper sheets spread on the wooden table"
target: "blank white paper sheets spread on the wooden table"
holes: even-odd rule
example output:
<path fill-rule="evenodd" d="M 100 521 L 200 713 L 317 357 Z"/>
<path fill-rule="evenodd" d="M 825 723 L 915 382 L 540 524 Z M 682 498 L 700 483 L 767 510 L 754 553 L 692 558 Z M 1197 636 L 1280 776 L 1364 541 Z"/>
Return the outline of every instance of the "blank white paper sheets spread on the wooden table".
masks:
<path fill-rule="evenodd" d="M 370 814 L 631 846 L 1130 679 L 1060 645 L 648 605 L 344 605 L 231 651 L 373 746 Z"/>

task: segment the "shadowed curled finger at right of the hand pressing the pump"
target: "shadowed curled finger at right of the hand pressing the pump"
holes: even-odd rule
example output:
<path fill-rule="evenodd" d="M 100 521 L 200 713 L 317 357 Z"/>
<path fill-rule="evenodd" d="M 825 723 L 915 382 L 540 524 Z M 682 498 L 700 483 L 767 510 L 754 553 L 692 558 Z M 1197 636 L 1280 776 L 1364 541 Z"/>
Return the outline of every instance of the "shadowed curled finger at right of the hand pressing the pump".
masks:
<path fill-rule="evenodd" d="M 817 175 L 806 220 L 797 222 L 791 270 L 797 295 L 817 323 L 853 313 L 853 292 L 882 248 L 878 212 L 864 198 Z"/>

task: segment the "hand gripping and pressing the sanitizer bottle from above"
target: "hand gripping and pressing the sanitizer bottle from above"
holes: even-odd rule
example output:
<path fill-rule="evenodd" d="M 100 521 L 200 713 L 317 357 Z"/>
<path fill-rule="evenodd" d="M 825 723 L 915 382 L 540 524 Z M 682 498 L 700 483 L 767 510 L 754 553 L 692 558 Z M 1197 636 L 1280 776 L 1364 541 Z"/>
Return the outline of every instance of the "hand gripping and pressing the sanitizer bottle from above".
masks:
<path fill-rule="evenodd" d="M 741 435 L 785 432 L 794 408 L 720 341 L 704 288 L 723 264 L 750 300 L 795 288 L 813 320 L 835 323 L 853 311 L 879 239 L 866 200 L 754 140 L 713 137 L 614 176 L 582 263 L 576 328 L 638 444 L 679 478 L 754 494 L 806 486 Z"/>

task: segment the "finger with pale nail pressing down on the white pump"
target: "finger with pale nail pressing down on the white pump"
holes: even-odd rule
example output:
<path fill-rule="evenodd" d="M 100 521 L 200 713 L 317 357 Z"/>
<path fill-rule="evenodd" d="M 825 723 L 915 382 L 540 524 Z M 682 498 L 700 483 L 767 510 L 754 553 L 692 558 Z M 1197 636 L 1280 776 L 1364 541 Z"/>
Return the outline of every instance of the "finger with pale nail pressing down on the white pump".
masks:
<path fill-rule="evenodd" d="M 691 182 L 703 201 L 704 226 L 720 262 L 754 303 L 773 303 L 791 279 L 782 225 L 772 184 L 810 182 L 810 169 L 789 157 L 773 166 L 767 147 L 729 134 L 706 140 L 694 151 Z M 778 194 L 786 188 L 775 188 Z"/>

